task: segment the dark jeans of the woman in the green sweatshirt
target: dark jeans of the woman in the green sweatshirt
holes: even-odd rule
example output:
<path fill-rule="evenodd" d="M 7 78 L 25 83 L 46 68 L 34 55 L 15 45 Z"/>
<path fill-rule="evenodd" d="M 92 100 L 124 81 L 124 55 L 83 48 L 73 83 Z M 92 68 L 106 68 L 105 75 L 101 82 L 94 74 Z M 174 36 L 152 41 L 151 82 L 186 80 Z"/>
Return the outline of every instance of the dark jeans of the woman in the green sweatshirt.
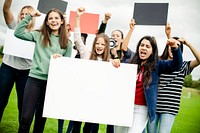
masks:
<path fill-rule="evenodd" d="M 46 80 L 29 77 L 24 90 L 22 115 L 18 133 L 29 133 L 35 113 L 33 133 L 43 133 L 46 118 L 42 117 L 44 98 L 46 92 Z"/>

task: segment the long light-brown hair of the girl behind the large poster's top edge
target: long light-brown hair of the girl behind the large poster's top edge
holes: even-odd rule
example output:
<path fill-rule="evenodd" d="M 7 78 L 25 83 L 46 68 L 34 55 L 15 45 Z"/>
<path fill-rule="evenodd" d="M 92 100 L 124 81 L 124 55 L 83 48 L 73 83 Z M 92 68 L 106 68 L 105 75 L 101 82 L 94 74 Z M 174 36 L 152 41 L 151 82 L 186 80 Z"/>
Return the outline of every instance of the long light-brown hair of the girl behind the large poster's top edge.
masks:
<path fill-rule="evenodd" d="M 93 41 L 93 45 L 92 45 L 92 52 L 91 52 L 91 55 L 90 55 L 90 60 L 97 60 L 97 53 L 95 51 L 95 44 L 96 44 L 98 38 L 103 38 L 104 41 L 105 41 L 105 51 L 102 55 L 102 60 L 103 61 L 109 61 L 109 59 L 110 59 L 110 39 L 104 33 L 98 34 L 95 37 L 95 39 Z"/>

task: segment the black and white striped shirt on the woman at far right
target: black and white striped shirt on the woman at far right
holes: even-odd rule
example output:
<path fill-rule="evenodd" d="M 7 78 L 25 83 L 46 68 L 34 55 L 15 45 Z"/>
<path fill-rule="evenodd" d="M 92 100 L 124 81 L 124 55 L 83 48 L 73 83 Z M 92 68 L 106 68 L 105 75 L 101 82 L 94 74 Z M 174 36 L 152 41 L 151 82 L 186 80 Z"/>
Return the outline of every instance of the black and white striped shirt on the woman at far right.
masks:
<path fill-rule="evenodd" d="M 190 61 L 184 61 L 179 71 L 160 75 L 156 106 L 157 113 L 168 113 L 173 115 L 178 113 L 184 78 L 191 72 Z"/>

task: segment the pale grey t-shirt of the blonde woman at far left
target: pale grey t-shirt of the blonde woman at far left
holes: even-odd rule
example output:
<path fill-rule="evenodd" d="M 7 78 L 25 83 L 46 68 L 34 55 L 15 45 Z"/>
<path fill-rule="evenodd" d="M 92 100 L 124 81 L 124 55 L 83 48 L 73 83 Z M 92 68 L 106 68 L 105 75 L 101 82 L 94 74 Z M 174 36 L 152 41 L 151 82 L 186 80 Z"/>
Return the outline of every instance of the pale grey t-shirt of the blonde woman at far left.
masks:
<path fill-rule="evenodd" d="M 13 22 L 10 25 L 8 25 L 9 29 L 15 29 L 16 27 L 17 27 L 16 20 L 13 20 Z M 27 70 L 30 69 L 32 60 L 4 54 L 3 63 L 15 69 Z"/>

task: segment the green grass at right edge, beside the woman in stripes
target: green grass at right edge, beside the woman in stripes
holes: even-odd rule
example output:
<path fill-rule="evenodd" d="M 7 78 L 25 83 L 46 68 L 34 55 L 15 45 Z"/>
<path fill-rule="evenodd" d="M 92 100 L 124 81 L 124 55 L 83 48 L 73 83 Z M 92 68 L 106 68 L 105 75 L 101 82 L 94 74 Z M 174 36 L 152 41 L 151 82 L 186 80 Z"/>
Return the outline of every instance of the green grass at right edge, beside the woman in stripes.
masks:
<path fill-rule="evenodd" d="M 186 98 L 191 92 L 191 98 Z M 172 133 L 200 133 L 200 91 L 183 89 L 181 107 Z"/>

